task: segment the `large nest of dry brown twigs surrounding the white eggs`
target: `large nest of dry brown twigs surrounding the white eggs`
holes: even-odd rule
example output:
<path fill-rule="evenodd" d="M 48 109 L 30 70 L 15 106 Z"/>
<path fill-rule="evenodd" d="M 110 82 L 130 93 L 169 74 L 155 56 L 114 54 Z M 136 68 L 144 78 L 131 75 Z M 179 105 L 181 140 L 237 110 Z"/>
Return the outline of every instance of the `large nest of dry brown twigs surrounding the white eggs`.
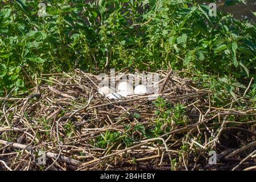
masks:
<path fill-rule="evenodd" d="M 234 100 L 218 108 L 189 78 L 156 74 L 162 100 L 108 100 L 97 93 L 97 77 L 80 70 L 42 75 L 29 95 L 7 94 L 0 170 L 255 168 L 255 120 L 239 122 L 255 109 L 233 109 Z"/>

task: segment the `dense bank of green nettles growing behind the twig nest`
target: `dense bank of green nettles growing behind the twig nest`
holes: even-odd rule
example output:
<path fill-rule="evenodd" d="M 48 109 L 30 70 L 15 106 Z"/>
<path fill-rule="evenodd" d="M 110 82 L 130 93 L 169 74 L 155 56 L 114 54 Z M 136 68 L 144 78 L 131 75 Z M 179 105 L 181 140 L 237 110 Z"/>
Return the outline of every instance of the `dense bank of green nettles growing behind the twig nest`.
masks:
<path fill-rule="evenodd" d="M 256 67 L 255 24 L 224 13 L 238 2 L 209 16 L 192 0 L 53 0 L 40 16 L 40 1 L 1 1 L 0 94 L 24 92 L 40 73 L 126 67 L 186 69 L 216 94 L 236 97 Z"/>

